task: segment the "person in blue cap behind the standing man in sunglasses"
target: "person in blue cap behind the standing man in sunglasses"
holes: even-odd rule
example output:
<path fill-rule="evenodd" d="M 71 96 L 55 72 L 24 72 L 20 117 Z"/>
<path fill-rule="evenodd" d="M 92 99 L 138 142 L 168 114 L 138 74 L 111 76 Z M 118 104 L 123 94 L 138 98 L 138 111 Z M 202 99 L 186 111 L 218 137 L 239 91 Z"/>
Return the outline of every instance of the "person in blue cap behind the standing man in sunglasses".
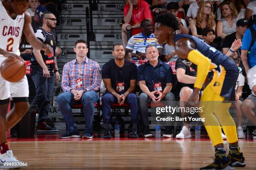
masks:
<path fill-rule="evenodd" d="M 39 5 L 36 8 L 36 12 L 35 15 L 33 17 L 31 17 L 31 25 L 34 31 L 36 31 L 38 28 L 40 28 L 42 26 L 42 20 L 43 20 L 43 15 L 46 12 L 46 7 Z M 55 27 L 52 28 L 52 33 L 54 34 L 54 37 L 56 39 L 57 35 L 56 35 L 56 31 L 55 31 Z M 56 57 L 59 57 L 61 55 L 61 48 L 60 47 L 56 47 L 55 50 L 56 53 Z"/>

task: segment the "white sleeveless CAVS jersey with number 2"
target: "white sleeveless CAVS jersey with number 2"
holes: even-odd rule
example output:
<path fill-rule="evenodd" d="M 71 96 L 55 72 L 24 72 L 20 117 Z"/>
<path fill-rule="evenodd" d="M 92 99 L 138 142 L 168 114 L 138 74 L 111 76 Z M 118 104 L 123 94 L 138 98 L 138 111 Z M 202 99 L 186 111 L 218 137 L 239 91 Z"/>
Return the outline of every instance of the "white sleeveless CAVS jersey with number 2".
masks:
<path fill-rule="evenodd" d="M 15 19 L 10 18 L 1 1 L 0 11 L 0 48 L 20 55 L 19 45 L 24 25 L 24 14 L 17 15 Z"/>

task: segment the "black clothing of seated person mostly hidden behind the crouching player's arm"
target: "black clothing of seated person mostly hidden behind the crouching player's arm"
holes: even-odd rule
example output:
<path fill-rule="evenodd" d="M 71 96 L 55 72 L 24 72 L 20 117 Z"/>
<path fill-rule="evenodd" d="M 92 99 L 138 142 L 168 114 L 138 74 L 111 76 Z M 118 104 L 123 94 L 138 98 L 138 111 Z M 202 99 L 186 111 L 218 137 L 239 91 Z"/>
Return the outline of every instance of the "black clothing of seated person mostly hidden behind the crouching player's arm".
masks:
<path fill-rule="evenodd" d="M 175 69 L 177 70 L 178 68 L 182 68 L 182 69 L 185 70 L 185 75 L 190 75 L 190 76 L 196 77 L 197 72 L 192 67 L 189 67 L 188 65 L 185 65 L 182 61 L 183 60 L 181 58 L 177 59 Z M 195 65 L 195 67 L 196 67 L 196 65 Z M 179 85 L 180 89 L 182 87 L 190 87 L 190 88 L 194 87 L 194 84 L 186 84 L 186 83 L 182 83 L 182 82 L 179 82 L 179 83 L 180 83 L 180 85 Z"/>

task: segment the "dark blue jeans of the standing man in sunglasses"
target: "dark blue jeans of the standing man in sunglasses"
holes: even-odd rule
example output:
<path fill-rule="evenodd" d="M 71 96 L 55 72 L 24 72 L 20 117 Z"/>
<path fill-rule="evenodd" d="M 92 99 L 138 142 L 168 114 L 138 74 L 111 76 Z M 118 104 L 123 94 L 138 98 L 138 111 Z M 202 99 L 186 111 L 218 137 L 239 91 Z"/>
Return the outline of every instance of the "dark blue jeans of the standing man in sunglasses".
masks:
<path fill-rule="evenodd" d="M 43 70 L 31 70 L 31 77 L 36 87 L 36 96 L 31 105 L 39 108 L 38 122 L 47 120 L 50 102 L 54 91 L 54 73 L 50 77 L 43 77 Z"/>

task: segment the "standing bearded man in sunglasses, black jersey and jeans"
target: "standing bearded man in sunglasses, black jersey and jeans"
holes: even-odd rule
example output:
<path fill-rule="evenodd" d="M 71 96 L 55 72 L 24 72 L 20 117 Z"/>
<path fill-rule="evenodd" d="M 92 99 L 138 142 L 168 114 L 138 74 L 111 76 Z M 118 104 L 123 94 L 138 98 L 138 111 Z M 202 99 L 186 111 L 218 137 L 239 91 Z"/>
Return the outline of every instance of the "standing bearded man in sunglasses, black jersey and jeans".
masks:
<path fill-rule="evenodd" d="M 44 51 L 33 49 L 31 58 L 31 77 L 36 87 L 36 97 L 31 104 L 38 105 L 39 108 L 38 126 L 36 128 L 38 132 L 58 131 L 55 127 L 50 127 L 46 124 L 50 102 L 53 97 L 54 79 L 58 82 L 60 78 L 55 54 L 56 42 L 51 32 L 55 25 L 56 17 L 54 14 L 50 12 L 44 13 L 43 26 L 36 30 L 35 35 L 38 40 L 51 46 L 52 53 L 47 56 Z"/>

